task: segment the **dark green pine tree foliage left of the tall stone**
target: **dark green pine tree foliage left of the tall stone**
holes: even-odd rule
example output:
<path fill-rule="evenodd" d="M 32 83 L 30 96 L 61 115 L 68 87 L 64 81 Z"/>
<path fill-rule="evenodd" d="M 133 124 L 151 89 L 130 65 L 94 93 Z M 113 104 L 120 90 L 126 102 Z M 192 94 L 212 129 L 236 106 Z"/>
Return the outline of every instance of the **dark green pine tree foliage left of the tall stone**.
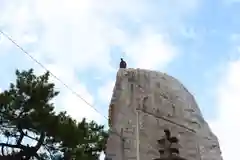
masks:
<path fill-rule="evenodd" d="M 17 70 L 16 76 L 0 93 L 0 159 L 98 159 L 108 136 L 104 126 L 56 113 L 51 100 L 59 92 L 49 72 Z"/>

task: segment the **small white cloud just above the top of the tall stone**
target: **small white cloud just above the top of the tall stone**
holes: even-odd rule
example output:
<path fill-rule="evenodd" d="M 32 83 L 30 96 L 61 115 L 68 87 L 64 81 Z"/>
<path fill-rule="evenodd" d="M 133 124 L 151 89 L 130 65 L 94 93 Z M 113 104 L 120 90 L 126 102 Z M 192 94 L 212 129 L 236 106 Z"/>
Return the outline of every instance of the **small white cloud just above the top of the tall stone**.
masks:
<path fill-rule="evenodd" d="M 154 69 L 164 67 L 176 56 L 175 48 L 163 35 L 144 29 L 143 33 L 127 47 L 126 54 L 134 67 Z"/>

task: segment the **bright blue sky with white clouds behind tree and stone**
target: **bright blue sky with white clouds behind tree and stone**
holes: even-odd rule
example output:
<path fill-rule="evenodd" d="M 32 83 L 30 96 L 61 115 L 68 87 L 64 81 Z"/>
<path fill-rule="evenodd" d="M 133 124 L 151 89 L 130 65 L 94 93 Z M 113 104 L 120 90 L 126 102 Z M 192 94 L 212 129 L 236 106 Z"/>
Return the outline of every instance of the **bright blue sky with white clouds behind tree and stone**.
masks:
<path fill-rule="evenodd" d="M 195 96 L 224 160 L 240 134 L 240 0 L 0 0 L 0 29 L 81 95 L 54 78 L 57 110 L 102 124 L 123 57 L 166 72 Z M 0 35 L 0 90 L 16 69 L 45 72 Z"/>

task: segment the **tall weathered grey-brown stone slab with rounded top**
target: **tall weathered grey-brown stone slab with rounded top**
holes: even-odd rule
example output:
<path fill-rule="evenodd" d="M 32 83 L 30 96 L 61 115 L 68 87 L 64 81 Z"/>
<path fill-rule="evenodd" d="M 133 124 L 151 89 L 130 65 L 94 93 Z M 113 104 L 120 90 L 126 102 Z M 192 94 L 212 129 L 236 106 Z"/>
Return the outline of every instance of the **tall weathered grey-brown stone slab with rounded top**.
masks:
<path fill-rule="evenodd" d="M 157 140 L 164 136 L 164 129 L 169 129 L 179 139 L 181 157 L 222 160 L 218 139 L 194 97 L 178 80 L 164 73 L 120 69 L 109 107 L 109 127 L 106 159 L 137 159 L 138 142 L 140 160 L 159 158 Z"/>

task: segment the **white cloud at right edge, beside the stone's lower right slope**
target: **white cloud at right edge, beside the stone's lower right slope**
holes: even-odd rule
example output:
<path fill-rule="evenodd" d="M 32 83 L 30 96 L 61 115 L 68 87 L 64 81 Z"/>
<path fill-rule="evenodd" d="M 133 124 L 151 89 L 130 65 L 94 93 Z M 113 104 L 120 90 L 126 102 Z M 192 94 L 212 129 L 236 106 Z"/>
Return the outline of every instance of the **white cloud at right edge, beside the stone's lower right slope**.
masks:
<path fill-rule="evenodd" d="M 210 123 L 219 138 L 224 160 L 238 157 L 240 139 L 240 60 L 231 61 L 226 65 L 217 90 L 219 117 Z"/>

